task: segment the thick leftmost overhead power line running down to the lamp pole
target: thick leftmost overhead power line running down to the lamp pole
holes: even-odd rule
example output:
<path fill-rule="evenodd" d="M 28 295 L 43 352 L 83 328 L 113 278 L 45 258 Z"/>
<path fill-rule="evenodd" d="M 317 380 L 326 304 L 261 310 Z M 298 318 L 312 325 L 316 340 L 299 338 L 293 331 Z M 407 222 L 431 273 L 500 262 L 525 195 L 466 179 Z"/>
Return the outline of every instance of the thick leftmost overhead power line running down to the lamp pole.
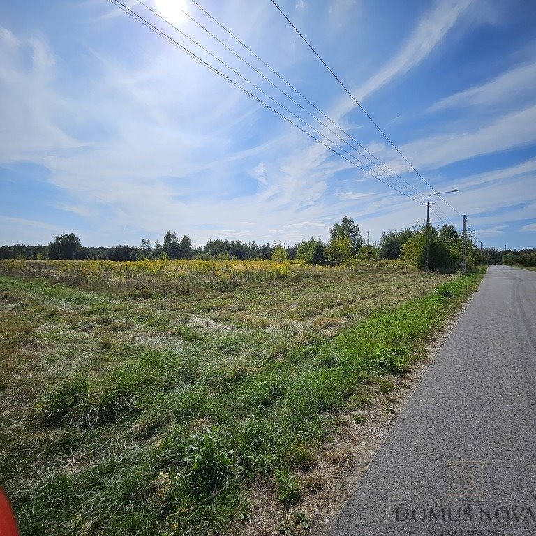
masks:
<path fill-rule="evenodd" d="M 200 64 L 206 66 L 207 68 L 209 68 L 211 71 L 213 71 L 214 73 L 216 73 L 218 76 L 222 77 L 223 79 L 227 80 L 228 82 L 230 82 L 230 84 L 234 85 L 234 87 L 237 87 L 237 89 L 240 89 L 240 91 L 243 91 L 245 94 L 247 94 L 248 96 L 251 96 L 251 98 L 254 98 L 255 101 L 258 101 L 258 103 L 262 104 L 263 106 L 267 107 L 267 109 L 271 110 L 272 112 L 274 112 L 275 114 L 277 114 L 279 117 L 281 117 L 282 119 L 284 119 L 285 121 L 287 121 L 288 123 L 290 123 L 292 126 L 295 126 L 295 128 L 298 128 L 301 132 L 305 133 L 306 135 L 308 135 L 309 137 L 313 138 L 313 140 L 319 142 L 320 144 L 322 144 L 324 147 L 326 147 L 327 149 L 329 149 L 330 151 L 334 152 L 334 154 L 337 154 L 338 156 L 341 156 L 341 158 L 344 158 L 345 161 L 348 161 L 348 163 L 350 163 L 351 165 L 355 166 L 356 168 L 359 168 L 360 170 L 362 170 L 363 172 L 366 172 L 368 174 L 371 174 L 371 172 L 369 172 L 368 170 L 362 168 L 360 165 L 357 165 L 355 162 L 352 162 L 349 158 L 346 158 L 343 154 L 341 154 L 340 152 L 336 151 L 336 149 L 334 149 L 333 147 L 330 147 L 328 144 L 326 144 L 325 142 L 323 142 L 322 140 L 320 140 L 320 138 L 316 137 L 315 135 L 311 134 L 310 132 L 306 131 L 304 128 L 301 128 L 301 126 L 299 126 L 298 124 L 296 124 L 294 121 L 292 121 L 291 119 L 288 119 L 288 117 L 285 117 L 285 115 L 281 114 L 281 112 L 278 112 L 277 110 L 275 110 L 274 107 L 271 107 L 269 104 L 265 103 L 264 101 L 262 101 L 262 99 L 258 98 L 258 96 L 255 96 L 254 94 L 251 93 L 251 91 L 248 91 L 246 88 L 242 87 L 240 84 L 238 84 L 237 82 L 235 82 L 234 80 L 232 80 L 230 77 L 228 77 L 227 75 L 225 75 L 224 73 L 222 73 L 220 70 L 218 70 L 216 67 L 212 66 L 211 64 L 209 64 L 207 61 L 204 61 L 204 59 L 200 58 L 197 54 L 195 54 L 194 52 L 192 52 L 191 50 L 189 50 L 187 47 L 185 47 L 184 45 L 181 45 L 181 43 L 179 43 L 177 40 L 174 40 L 172 37 L 168 36 L 168 34 L 165 34 L 164 31 L 161 31 L 161 29 L 158 29 L 156 26 L 154 26 L 154 24 L 151 24 L 149 21 L 147 21 L 146 19 L 144 19 L 141 15 L 138 15 L 137 13 L 135 13 L 135 11 L 131 10 L 130 8 L 128 8 L 127 6 L 124 5 L 124 3 L 121 3 L 119 0 L 110 0 L 111 3 L 113 3 L 115 6 L 119 7 L 121 10 L 123 10 L 125 13 L 127 13 L 128 15 L 130 15 L 131 17 L 133 17 L 135 20 L 137 20 L 138 22 L 141 22 L 142 24 L 144 24 L 145 27 L 149 28 L 151 31 L 154 31 L 154 33 L 156 33 L 157 35 L 161 36 L 163 39 L 167 40 L 169 43 L 171 43 L 172 45 L 176 46 L 179 48 L 179 50 L 181 50 L 182 52 L 185 52 L 186 54 L 188 54 L 188 56 L 190 56 L 192 59 L 195 59 L 195 61 L 198 61 Z M 186 36 L 187 37 L 187 36 Z M 190 38 L 191 39 L 191 38 Z M 195 41 L 194 41 L 195 42 Z M 198 44 L 198 43 L 196 43 Z M 198 45 L 201 47 L 201 45 Z M 206 50 L 204 49 L 203 47 L 201 47 L 203 50 Z M 208 52 L 208 51 L 207 51 Z M 211 54 L 209 52 L 209 54 Z M 212 56 L 214 56 L 214 54 L 211 54 Z M 216 58 L 217 59 L 217 58 Z M 221 60 L 218 60 L 218 61 L 221 61 Z M 222 62 L 223 63 L 223 62 Z M 223 63 L 224 64 L 224 63 Z M 226 64 L 224 64 L 226 65 Z M 231 68 L 231 70 L 233 70 Z M 233 70 L 234 71 L 234 70 Z M 234 71 L 236 73 L 236 71 Z M 239 73 L 237 73 L 237 75 L 239 75 Z M 239 75 L 241 76 L 241 75 Z M 242 77 L 242 76 L 241 76 Z M 244 78 L 244 77 L 242 77 Z M 244 80 L 246 80 L 244 78 Z M 250 83 L 248 80 L 246 80 L 246 82 Z M 252 84 L 254 86 L 254 84 Z M 256 87 L 256 86 L 254 86 Z M 260 90 L 262 91 L 262 90 Z M 264 91 L 263 91 L 264 93 Z M 269 97 L 271 98 L 271 97 Z M 274 99 L 272 99 L 274 100 Z M 280 105 L 281 107 L 283 107 L 280 103 L 277 103 L 278 105 Z M 292 114 L 292 112 L 290 112 Z M 293 114 L 294 115 L 294 114 Z M 296 117 L 296 116 L 295 116 Z M 303 121 L 302 119 L 298 118 L 300 121 L 304 122 L 306 124 L 306 121 Z M 312 127 L 311 125 L 308 125 L 310 126 L 311 128 L 313 128 L 313 130 L 315 130 L 314 127 Z M 318 132 L 318 131 L 317 131 Z M 320 134 L 321 135 L 321 134 Z M 331 141 L 331 140 L 330 140 Z M 333 143 L 333 142 L 332 142 Z M 348 153 L 348 151 L 345 151 Z M 350 155 L 351 156 L 351 155 Z M 357 158 L 355 158 L 357 160 Z M 373 176 L 373 175 L 372 175 Z M 374 176 L 373 176 L 374 177 Z M 382 184 L 385 184 L 385 186 L 389 186 L 389 188 L 392 188 L 393 190 L 397 191 L 398 193 L 401 193 L 402 195 L 404 195 L 405 197 L 407 198 L 410 198 L 411 200 L 415 201 L 415 202 L 419 202 L 419 200 L 413 198 L 411 195 L 408 195 L 408 193 L 405 193 L 401 190 L 399 190 L 399 188 L 396 188 L 396 186 L 393 186 L 392 184 L 389 184 L 387 182 L 385 182 L 384 180 L 380 179 L 379 177 L 374 177 L 375 179 L 377 179 L 378 181 L 380 181 Z"/>

